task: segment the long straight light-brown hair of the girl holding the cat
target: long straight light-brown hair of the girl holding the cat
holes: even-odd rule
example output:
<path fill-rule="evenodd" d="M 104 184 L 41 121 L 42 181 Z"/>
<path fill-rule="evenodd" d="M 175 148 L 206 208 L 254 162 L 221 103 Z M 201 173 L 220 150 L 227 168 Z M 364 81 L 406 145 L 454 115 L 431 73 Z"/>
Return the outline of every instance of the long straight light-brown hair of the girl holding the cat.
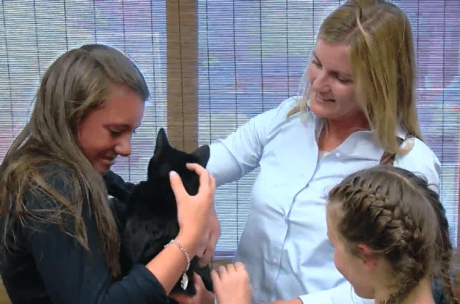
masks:
<path fill-rule="evenodd" d="M 135 64 L 106 45 L 68 51 L 46 70 L 29 123 L 0 165 L 3 252 L 9 250 L 6 240 L 14 239 L 8 230 L 10 220 L 31 228 L 32 222 L 57 224 L 88 250 L 84 218 L 93 214 L 108 268 L 114 278 L 120 276 L 118 229 L 104 180 L 82 152 L 76 134 L 77 124 L 104 103 L 113 84 L 126 84 L 144 101 L 149 97 Z M 69 195 L 54 189 L 53 177 L 62 181 Z M 49 208 L 29 209 L 25 203 L 29 194 L 43 198 Z M 74 227 L 66 227 L 69 222 Z"/>

